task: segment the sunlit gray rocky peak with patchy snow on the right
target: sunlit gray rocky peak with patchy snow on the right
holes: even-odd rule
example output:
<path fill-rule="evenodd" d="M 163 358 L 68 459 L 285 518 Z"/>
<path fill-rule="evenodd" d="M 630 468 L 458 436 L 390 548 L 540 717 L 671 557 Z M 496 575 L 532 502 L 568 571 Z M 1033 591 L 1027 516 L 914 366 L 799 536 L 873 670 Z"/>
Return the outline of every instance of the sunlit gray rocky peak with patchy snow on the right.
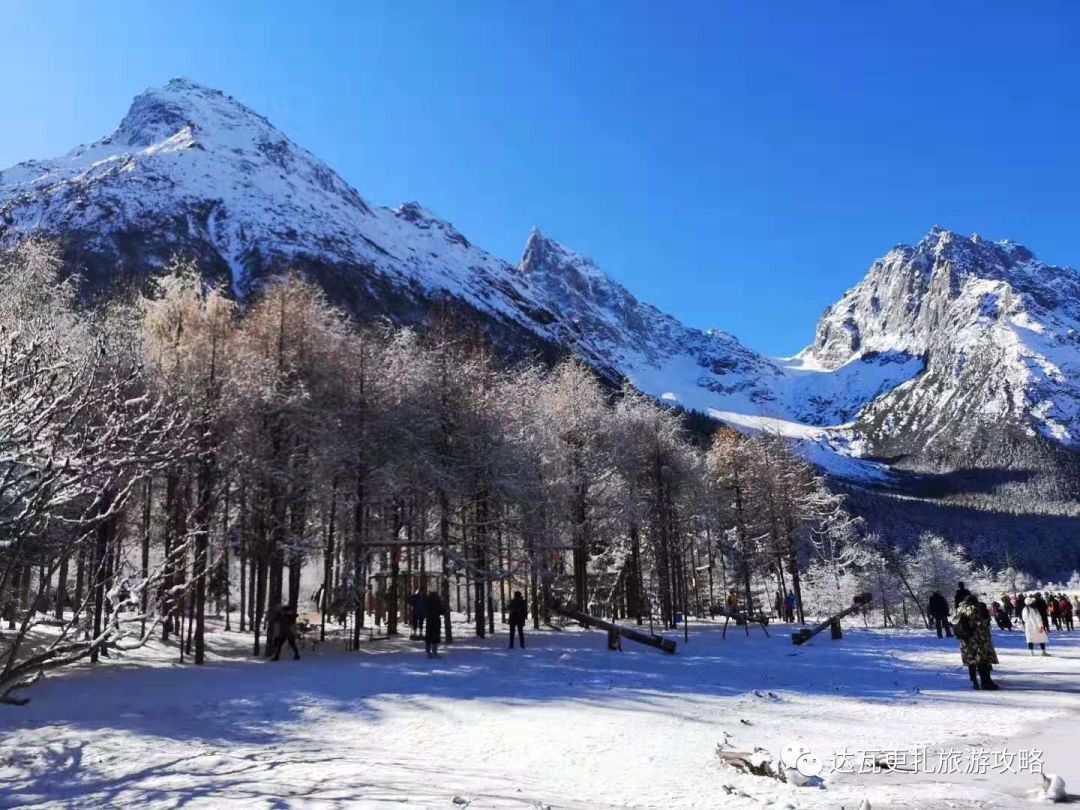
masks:
<path fill-rule="evenodd" d="M 1025 436 L 1080 443 L 1080 275 L 1068 268 L 934 228 L 874 262 L 804 355 L 835 368 L 883 351 L 926 370 L 860 415 L 867 454 L 947 470 L 1018 462 Z"/>

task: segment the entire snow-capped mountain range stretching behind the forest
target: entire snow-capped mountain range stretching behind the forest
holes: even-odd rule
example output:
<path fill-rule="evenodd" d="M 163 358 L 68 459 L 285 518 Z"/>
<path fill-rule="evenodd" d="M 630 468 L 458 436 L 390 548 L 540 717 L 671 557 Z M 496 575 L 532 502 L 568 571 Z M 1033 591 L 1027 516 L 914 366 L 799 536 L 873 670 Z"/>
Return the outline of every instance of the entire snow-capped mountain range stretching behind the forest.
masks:
<path fill-rule="evenodd" d="M 108 137 L 0 172 L 0 246 L 30 233 L 62 240 L 97 288 L 180 254 L 241 295 L 299 269 L 361 316 L 421 323 L 448 300 L 510 353 L 572 351 L 665 402 L 798 438 L 845 475 L 880 474 L 859 456 L 982 463 L 999 433 L 1080 442 L 1080 281 L 941 229 L 875 262 L 812 346 L 771 359 L 638 301 L 539 231 L 514 266 L 417 203 L 368 204 L 258 113 L 174 80 Z"/>

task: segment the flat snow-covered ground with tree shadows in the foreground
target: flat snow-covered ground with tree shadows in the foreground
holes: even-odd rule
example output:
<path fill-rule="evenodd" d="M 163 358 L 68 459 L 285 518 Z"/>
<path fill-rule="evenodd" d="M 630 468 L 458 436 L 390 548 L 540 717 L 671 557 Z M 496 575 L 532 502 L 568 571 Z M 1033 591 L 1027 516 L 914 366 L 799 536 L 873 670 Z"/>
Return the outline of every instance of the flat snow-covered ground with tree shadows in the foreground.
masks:
<path fill-rule="evenodd" d="M 691 625 L 672 657 L 576 630 L 510 651 L 463 626 L 435 661 L 405 639 L 270 663 L 218 634 L 202 669 L 148 650 L 0 710 L 0 806 L 1016 808 L 1032 748 L 1080 787 L 1080 633 L 1051 658 L 996 634 L 1002 690 L 982 692 L 927 633 L 795 647 L 784 625 L 731 630 Z M 802 744 L 824 786 L 739 773 L 721 742 L 773 759 Z M 921 772 L 859 773 L 864 751 Z"/>

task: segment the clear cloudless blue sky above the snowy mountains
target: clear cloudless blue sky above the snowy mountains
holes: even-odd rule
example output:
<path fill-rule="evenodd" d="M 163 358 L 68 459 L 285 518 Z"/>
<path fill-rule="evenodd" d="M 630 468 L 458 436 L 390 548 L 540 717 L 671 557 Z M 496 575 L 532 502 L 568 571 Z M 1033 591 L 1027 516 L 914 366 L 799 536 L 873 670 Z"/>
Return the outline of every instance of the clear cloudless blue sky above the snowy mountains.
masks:
<path fill-rule="evenodd" d="M 513 261 L 537 226 L 771 353 L 935 222 L 1080 265 L 1077 3 L 5 0 L 2 16 L 0 166 L 94 140 L 184 76 L 370 202 L 418 200 Z"/>

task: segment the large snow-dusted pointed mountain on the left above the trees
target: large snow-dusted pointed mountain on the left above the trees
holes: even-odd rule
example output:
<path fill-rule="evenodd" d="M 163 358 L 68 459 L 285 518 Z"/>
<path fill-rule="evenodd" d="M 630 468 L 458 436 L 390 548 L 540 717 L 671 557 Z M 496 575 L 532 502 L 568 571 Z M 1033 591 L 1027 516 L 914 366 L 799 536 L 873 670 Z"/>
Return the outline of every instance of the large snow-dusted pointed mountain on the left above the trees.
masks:
<path fill-rule="evenodd" d="M 0 228 L 77 241 L 113 273 L 190 253 L 239 291 L 314 262 L 375 299 L 445 293 L 530 329 L 545 316 L 511 265 L 448 222 L 368 205 L 265 118 L 185 80 L 139 95 L 103 140 L 0 172 Z"/>

